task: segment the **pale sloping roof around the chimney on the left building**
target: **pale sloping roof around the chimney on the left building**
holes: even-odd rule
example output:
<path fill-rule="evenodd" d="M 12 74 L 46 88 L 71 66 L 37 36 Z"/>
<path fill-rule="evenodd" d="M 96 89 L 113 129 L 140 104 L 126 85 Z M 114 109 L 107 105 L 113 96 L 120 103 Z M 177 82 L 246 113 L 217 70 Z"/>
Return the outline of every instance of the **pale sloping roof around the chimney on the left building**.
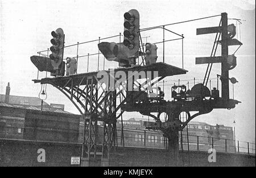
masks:
<path fill-rule="evenodd" d="M 5 94 L 0 94 L 0 102 L 5 101 Z M 41 106 L 41 101 L 38 97 L 23 97 L 23 96 L 13 96 L 9 97 L 9 105 L 27 105 L 27 106 Z M 49 106 L 47 102 L 43 101 L 44 106 Z"/>

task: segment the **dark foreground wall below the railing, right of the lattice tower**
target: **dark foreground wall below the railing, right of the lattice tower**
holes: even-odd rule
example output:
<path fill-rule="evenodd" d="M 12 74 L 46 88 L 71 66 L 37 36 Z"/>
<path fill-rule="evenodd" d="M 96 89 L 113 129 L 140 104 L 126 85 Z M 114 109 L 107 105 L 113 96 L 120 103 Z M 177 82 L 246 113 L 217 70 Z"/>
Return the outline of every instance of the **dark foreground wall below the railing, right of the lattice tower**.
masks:
<path fill-rule="evenodd" d="M 208 152 L 179 152 L 178 166 L 254 166 L 255 155 L 216 153 L 216 162 L 208 162 Z M 170 166 L 170 155 L 166 150 L 149 148 L 118 148 L 112 154 L 113 166 Z"/>

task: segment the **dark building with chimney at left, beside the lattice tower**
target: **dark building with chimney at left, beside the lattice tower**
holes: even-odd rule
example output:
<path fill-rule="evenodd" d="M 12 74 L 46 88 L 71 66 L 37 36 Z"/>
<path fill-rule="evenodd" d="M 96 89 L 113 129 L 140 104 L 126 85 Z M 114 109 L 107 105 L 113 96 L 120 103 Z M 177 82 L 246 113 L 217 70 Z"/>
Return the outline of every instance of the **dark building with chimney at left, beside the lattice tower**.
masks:
<path fill-rule="evenodd" d="M 0 138 L 78 142 L 80 115 L 64 105 L 47 104 L 38 97 L 11 96 L 10 84 L 0 95 Z"/>

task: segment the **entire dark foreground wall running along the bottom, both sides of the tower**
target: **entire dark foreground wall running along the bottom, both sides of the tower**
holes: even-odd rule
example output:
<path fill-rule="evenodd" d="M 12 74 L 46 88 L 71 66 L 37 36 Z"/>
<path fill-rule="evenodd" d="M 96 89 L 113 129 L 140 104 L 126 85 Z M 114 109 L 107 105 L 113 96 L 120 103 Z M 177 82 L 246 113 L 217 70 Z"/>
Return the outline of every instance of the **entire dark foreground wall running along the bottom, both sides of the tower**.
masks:
<path fill-rule="evenodd" d="M 46 162 L 38 162 L 38 149 L 46 151 Z M 35 142 L 0 139 L 0 166 L 71 166 L 71 157 L 80 156 L 80 143 Z M 181 152 L 180 166 L 254 166 L 255 156 L 243 154 L 216 155 L 216 163 L 208 162 L 207 152 Z M 100 160 L 97 160 L 100 162 Z M 166 150 L 119 147 L 110 154 L 110 166 L 169 166 Z M 96 165 L 100 165 L 96 164 Z"/>

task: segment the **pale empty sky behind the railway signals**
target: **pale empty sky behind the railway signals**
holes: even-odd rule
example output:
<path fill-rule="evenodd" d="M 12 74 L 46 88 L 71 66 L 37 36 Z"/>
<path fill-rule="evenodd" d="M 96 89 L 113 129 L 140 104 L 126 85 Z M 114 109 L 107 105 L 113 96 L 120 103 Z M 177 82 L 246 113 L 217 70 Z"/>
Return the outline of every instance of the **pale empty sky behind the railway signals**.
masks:
<path fill-rule="evenodd" d="M 51 31 L 63 28 L 65 44 L 76 44 L 89 40 L 118 35 L 123 32 L 123 14 L 130 9 L 140 13 L 141 28 L 180 22 L 205 16 L 228 13 L 228 18 L 242 19 L 242 47 L 237 51 L 237 67 L 230 71 L 230 77 L 239 81 L 235 85 L 235 99 L 242 101 L 235 109 L 216 109 L 193 121 L 215 125 L 233 126 L 236 120 L 238 140 L 255 142 L 255 2 L 237 1 L 11 1 L 0 0 L 1 20 L 1 61 L 0 93 L 5 93 L 7 82 L 11 85 L 11 95 L 37 97 L 40 85 L 34 84 L 37 69 L 30 56 L 51 47 Z M 246 20 L 246 21 L 244 21 Z M 218 26 L 220 16 L 189 23 L 168 26 L 178 34 L 184 34 L 184 68 L 189 72 L 181 76 L 167 77 L 165 80 L 166 100 L 170 100 L 173 80 L 203 79 L 207 65 L 195 65 L 195 57 L 210 56 L 214 34 L 196 35 L 196 28 Z M 229 24 L 236 21 L 229 20 Z M 237 28 L 239 28 L 237 26 Z M 162 30 L 142 33 L 150 36 L 147 42 L 155 43 L 163 39 Z M 177 38 L 166 33 L 166 40 Z M 123 38 L 121 38 L 121 41 Z M 146 39 L 143 39 L 144 42 Z M 119 42 L 119 38 L 104 42 Z M 162 61 L 162 44 L 158 44 L 158 61 Z M 236 47 L 229 48 L 232 54 Z M 181 67 L 181 41 L 167 42 L 166 63 Z M 97 43 L 80 45 L 79 55 L 97 53 Z M 65 48 L 64 57 L 76 56 L 76 47 Z M 97 57 L 90 57 L 89 71 L 96 71 Z M 102 69 L 101 56 L 100 69 Z M 86 72 L 87 57 L 79 59 L 79 73 Z M 118 64 L 106 61 L 106 67 L 115 68 Z M 210 78 L 220 74 L 220 64 L 214 64 Z M 48 74 L 49 76 L 49 74 Z M 40 78 L 45 72 L 40 73 Z M 191 81 L 192 82 L 192 81 Z M 191 85 L 192 86 L 192 85 Z M 216 86 L 216 80 L 212 81 Z M 167 92 L 168 91 L 168 92 Z M 47 85 L 48 103 L 65 104 L 65 110 L 78 111 L 75 106 L 57 89 Z M 230 85 L 230 98 L 232 87 Z M 138 113 L 125 114 L 125 118 L 142 117 Z"/>

